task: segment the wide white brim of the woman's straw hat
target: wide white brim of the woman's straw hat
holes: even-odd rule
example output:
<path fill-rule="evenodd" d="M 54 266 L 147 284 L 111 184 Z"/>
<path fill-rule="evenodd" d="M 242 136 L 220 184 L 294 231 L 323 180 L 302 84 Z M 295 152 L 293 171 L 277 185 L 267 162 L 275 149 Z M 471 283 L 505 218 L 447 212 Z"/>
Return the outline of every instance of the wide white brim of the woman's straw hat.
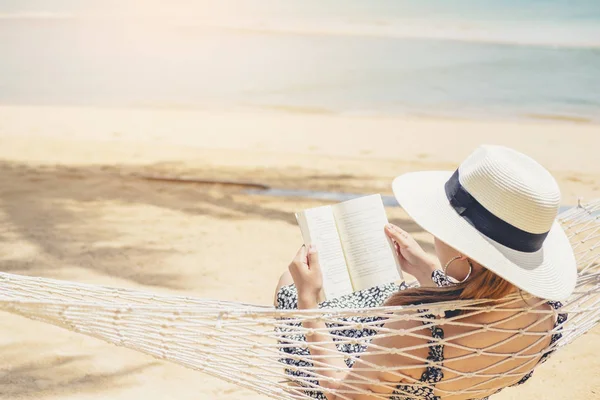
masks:
<path fill-rule="evenodd" d="M 534 253 L 510 249 L 479 233 L 450 205 L 444 184 L 450 171 L 412 172 L 392 183 L 394 196 L 424 230 L 524 291 L 547 300 L 565 300 L 577 281 L 575 256 L 555 221 Z"/>

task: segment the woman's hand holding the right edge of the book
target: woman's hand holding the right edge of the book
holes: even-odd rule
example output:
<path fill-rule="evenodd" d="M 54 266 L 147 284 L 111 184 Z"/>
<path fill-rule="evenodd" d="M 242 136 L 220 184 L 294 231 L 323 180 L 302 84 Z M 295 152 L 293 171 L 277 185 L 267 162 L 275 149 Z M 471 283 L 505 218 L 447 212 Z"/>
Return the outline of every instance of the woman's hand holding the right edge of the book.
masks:
<path fill-rule="evenodd" d="M 433 286 L 431 275 L 441 269 L 437 257 L 426 253 L 408 232 L 394 224 L 387 224 L 385 233 L 396 247 L 402 270 L 417 278 L 421 286 Z"/>

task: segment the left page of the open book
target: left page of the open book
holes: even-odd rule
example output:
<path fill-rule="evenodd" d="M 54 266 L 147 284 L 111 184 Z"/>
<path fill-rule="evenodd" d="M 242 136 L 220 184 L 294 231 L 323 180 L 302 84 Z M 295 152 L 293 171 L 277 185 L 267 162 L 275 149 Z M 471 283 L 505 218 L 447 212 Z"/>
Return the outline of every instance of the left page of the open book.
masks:
<path fill-rule="evenodd" d="M 317 246 L 325 297 L 333 299 L 352 293 L 352 283 L 331 206 L 304 210 L 296 214 L 296 219 L 304 243 Z"/>

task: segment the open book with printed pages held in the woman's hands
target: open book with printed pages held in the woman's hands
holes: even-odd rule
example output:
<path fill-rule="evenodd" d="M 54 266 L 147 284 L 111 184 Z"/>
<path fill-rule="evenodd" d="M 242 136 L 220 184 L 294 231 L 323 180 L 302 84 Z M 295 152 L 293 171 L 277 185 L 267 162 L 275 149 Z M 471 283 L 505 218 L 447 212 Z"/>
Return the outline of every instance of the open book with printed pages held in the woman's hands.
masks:
<path fill-rule="evenodd" d="M 306 245 L 315 244 L 325 297 L 335 297 L 402 278 L 379 194 L 296 213 Z"/>

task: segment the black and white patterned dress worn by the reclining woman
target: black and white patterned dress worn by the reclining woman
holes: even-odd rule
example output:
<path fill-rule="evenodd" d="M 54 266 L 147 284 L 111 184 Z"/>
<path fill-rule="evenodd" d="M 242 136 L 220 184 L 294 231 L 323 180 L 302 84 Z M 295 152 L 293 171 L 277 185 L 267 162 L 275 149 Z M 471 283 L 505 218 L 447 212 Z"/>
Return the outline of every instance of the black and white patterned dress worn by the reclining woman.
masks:
<path fill-rule="evenodd" d="M 432 281 L 437 286 L 448 286 L 453 283 L 444 275 L 444 273 L 440 270 L 436 270 L 433 272 L 431 276 Z M 408 286 L 403 282 L 400 285 L 397 284 L 387 284 L 381 286 L 375 286 L 370 289 L 361 290 L 359 292 L 354 292 L 352 294 L 342 296 L 336 299 L 327 300 L 323 303 L 319 304 L 319 308 L 368 308 L 368 307 L 378 307 L 383 305 L 383 303 L 395 292 L 399 290 L 406 290 Z M 560 302 L 548 302 L 550 306 L 557 310 L 562 307 Z M 297 309 L 298 308 L 298 293 L 296 291 L 296 287 L 292 284 L 289 286 L 282 287 L 277 293 L 277 308 L 278 309 Z M 424 310 L 420 310 L 424 311 Z M 452 312 L 447 312 L 447 317 L 449 317 Z M 435 320 L 436 316 L 433 314 L 425 315 L 427 319 Z M 383 325 L 384 321 L 380 317 L 349 317 L 342 318 L 343 322 L 352 322 L 355 324 L 362 323 L 373 323 L 376 321 L 381 321 L 381 324 L 375 324 L 371 326 L 380 327 Z M 563 324 L 567 320 L 567 314 L 558 314 L 558 318 L 555 324 L 555 327 Z M 340 321 L 340 322 L 342 322 Z M 435 324 L 425 323 L 431 332 L 431 336 L 433 339 L 443 339 L 444 338 L 444 330 Z M 309 367 L 312 366 L 310 362 L 299 360 L 297 356 L 302 356 L 303 359 L 307 359 L 310 357 L 310 351 L 306 346 L 298 346 L 297 342 L 306 341 L 304 335 L 300 335 L 297 333 L 293 333 L 296 331 L 295 328 L 299 327 L 299 323 L 289 323 L 288 326 L 290 328 L 280 327 L 278 331 L 284 333 L 280 339 L 280 350 L 286 354 L 287 356 L 282 357 L 280 361 L 286 365 L 285 372 L 290 375 L 293 380 L 293 377 L 303 378 L 302 385 L 307 387 L 305 393 L 311 397 L 316 399 L 326 400 L 325 395 L 318 390 L 318 382 L 314 379 L 310 379 L 310 376 L 305 372 Z M 339 327 L 338 330 L 332 330 L 331 334 L 334 337 L 334 342 L 336 337 L 344 337 L 344 338 L 363 338 L 370 337 L 377 333 L 375 329 L 366 327 L 363 329 L 356 328 L 348 328 L 347 324 L 333 324 L 327 323 L 329 328 Z M 562 328 L 561 328 L 562 329 Z M 290 332 L 285 335 L 285 332 Z M 558 339 L 562 337 L 560 333 L 560 329 L 557 333 L 552 335 L 550 344 L 554 344 Z M 434 365 L 442 365 L 444 361 L 444 345 L 443 344 L 434 344 L 435 341 L 430 341 L 431 346 L 429 347 L 429 355 L 427 359 L 432 362 Z M 360 355 L 361 352 L 365 351 L 367 344 L 357 343 L 338 343 L 336 344 L 338 351 L 348 354 L 346 357 L 346 364 L 348 367 L 352 367 L 356 361 L 356 357 Z M 545 353 L 538 364 L 546 361 L 548 356 L 552 352 Z M 527 381 L 531 375 L 533 374 L 533 370 L 527 373 L 519 382 L 517 382 L 514 386 L 520 385 Z M 421 375 L 420 381 L 423 383 L 427 383 L 427 386 L 411 386 L 411 385 L 398 385 L 396 391 L 390 395 L 390 400 L 440 400 L 439 396 L 436 396 L 433 391 L 433 387 L 436 383 L 441 381 L 444 377 L 444 373 L 441 367 L 438 366 L 428 366 L 423 374 Z M 499 390 L 500 391 L 500 390 Z M 481 400 L 486 400 L 481 399 Z"/>

